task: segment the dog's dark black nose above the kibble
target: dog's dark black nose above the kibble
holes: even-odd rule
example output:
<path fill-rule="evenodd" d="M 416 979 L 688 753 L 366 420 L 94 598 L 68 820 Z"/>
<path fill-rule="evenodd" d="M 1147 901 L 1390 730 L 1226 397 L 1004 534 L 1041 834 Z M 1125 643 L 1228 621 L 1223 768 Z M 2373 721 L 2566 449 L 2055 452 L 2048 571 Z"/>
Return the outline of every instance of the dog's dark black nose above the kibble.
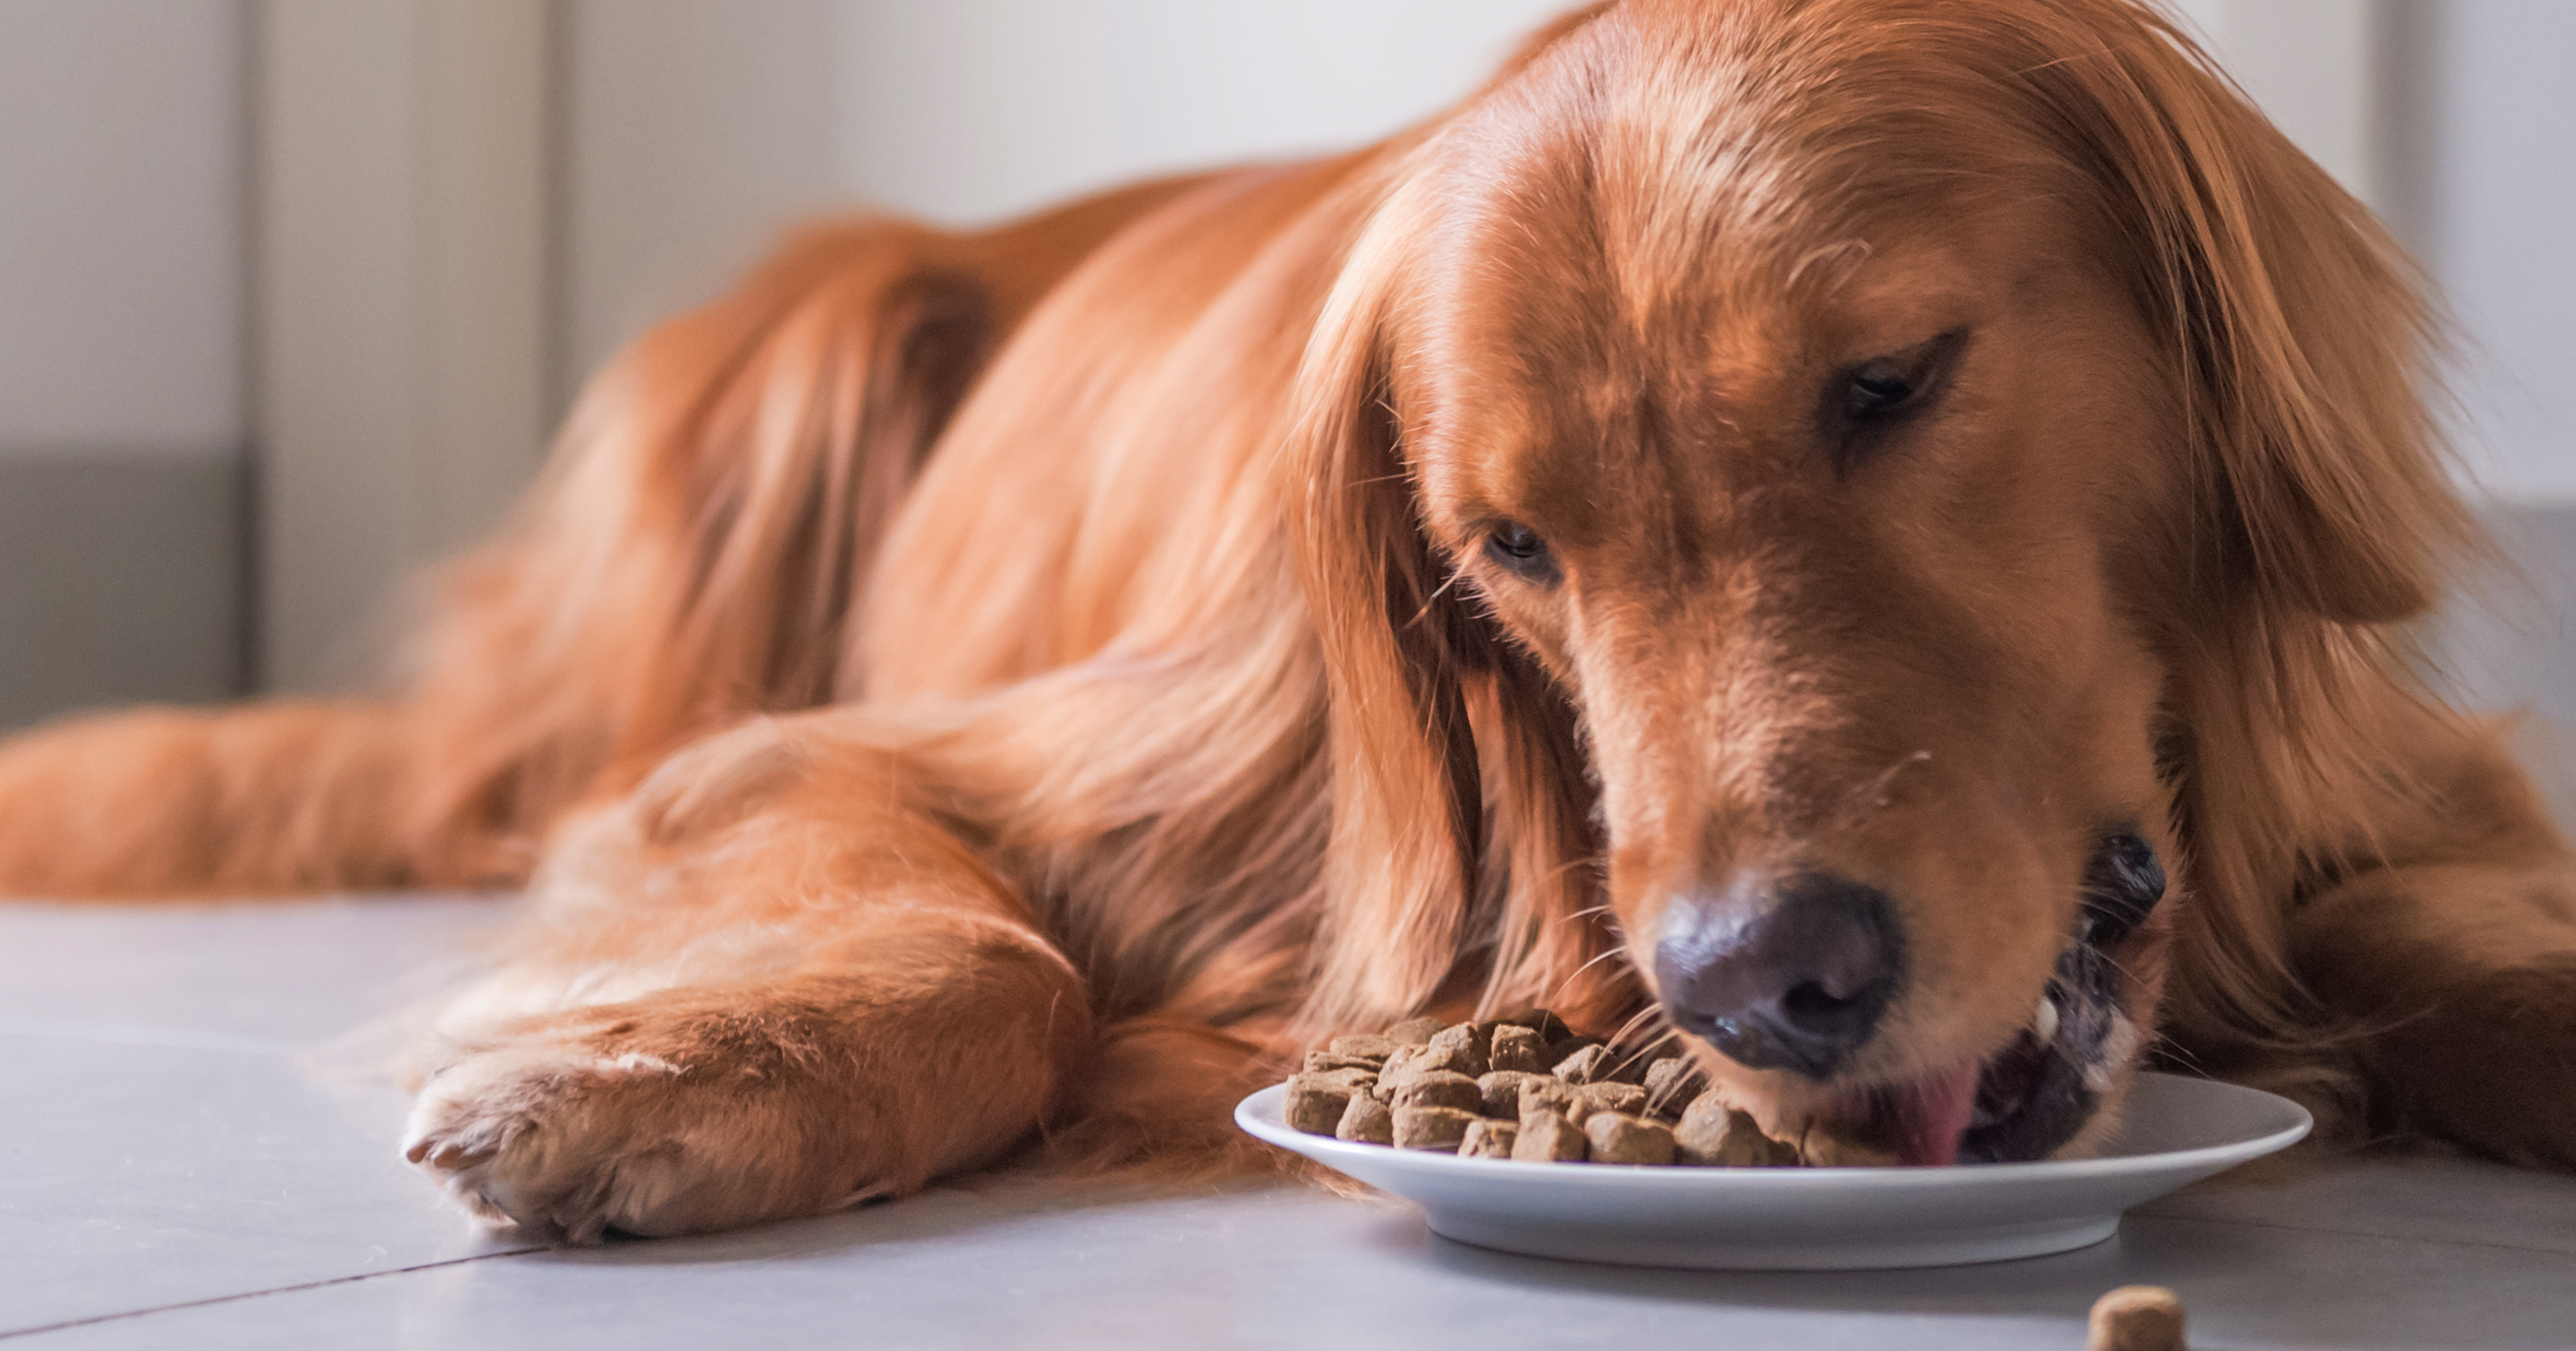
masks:
<path fill-rule="evenodd" d="M 1654 977 L 1682 1031 L 1739 1065 L 1832 1075 L 1896 993 L 1896 908 L 1829 874 L 1674 897 Z"/>

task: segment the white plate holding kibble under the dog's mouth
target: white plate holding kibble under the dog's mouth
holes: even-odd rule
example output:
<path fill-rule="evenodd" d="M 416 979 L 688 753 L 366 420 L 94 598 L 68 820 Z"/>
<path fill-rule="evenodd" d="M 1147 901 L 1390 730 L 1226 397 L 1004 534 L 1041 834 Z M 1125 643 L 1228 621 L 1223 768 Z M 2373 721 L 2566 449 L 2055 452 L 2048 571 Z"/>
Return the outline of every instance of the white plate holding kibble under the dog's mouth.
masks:
<path fill-rule="evenodd" d="M 1958 1168 L 1510 1163 L 1306 1134 L 1288 1085 L 1234 1124 L 1417 1201 L 1432 1232 L 1543 1258 L 1703 1268 L 1955 1266 L 2102 1243 L 2120 1212 L 2308 1134 L 2308 1111 L 2233 1083 L 2138 1075 L 2102 1158 Z"/>

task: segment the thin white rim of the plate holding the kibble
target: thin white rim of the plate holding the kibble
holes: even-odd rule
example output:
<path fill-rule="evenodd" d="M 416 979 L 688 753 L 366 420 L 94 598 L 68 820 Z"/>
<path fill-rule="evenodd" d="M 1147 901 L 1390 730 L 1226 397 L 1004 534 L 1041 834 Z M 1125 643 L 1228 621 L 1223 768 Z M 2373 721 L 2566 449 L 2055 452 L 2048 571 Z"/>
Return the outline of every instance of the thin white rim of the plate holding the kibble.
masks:
<path fill-rule="evenodd" d="M 1332 1160 L 1360 1158 L 1383 1160 L 1401 1158 L 1406 1165 L 1419 1165 L 1430 1171 L 1461 1171 L 1453 1176 L 1512 1176 L 1525 1178 L 1535 1186 L 1754 1186 L 1775 1191 L 1803 1191 L 1803 1189 L 1850 1189 L 1857 1183 L 1901 1183 L 1906 1189 L 1955 1189 L 1955 1186 L 1996 1186 L 1996 1183 L 2045 1183 L 2045 1181 L 2092 1181 L 2092 1178 L 2120 1178 L 2136 1173 L 2164 1173 L 2164 1171 L 2192 1171 L 2202 1165 L 2215 1165 L 2215 1171 L 2233 1168 L 2239 1163 L 2251 1163 L 2262 1155 L 2272 1155 L 2298 1145 L 2316 1129 L 2316 1116 L 2280 1093 L 2267 1093 L 2262 1088 L 2249 1088 L 2244 1083 L 2228 1083 L 2197 1075 L 2169 1075 L 2159 1070 L 2138 1070 L 2141 1078 L 2159 1078 L 2172 1083 L 2190 1083 L 2205 1088 L 2223 1088 L 2231 1093 L 2254 1093 L 2272 1106 L 2295 1114 L 2293 1124 L 2269 1129 L 2264 1134 L 2251 1134 L 2244 1140 L 2231 1140 L 2221 1145 L 2195 1145 L 2190 1150 L 2154 1150 L 2141 1155 L 2107 1155 L 2107 1158 L 2050 1158 L 2030 1163 L 1973 1163 L 1973 1165 L 1945 1165 L 1945 1168 L 1909 1168 L 1909 1165 L 1860 1165 L 1860 1168 L 1656 1168 L 1643 1163 L 1605 1163 L 1584 1168 L 1533 1168 L 1528 1163 L 1507 1158 L 1458 1158 L 1440 1150 L 1396 1150 L 1394 1145 L 1368 1145 L 1360 1140 L 1337 1140 L 1329 1134 L 1309 1134 L 1291 1127 L 1280 1111 L 1288 1098 L 1288 1083 L 1273 1083 L 1252 1091 L 1244 1101 L 1234 1103 L 1234 1124 L 1262 1140 L 1265 1145 L 1306 1155 L 1342 1173 Z M 1383 1152 L 1381 1152 L 1383 1150 Z M 1685 1181 L 1700 1178 L 1700 1181 Z M 1363 1178 L 1365 1181 L 1365 1178 Z M 1370 1183 L 1378 1186 L 1378 1183 Z M 1381 1186 L 1383 1191 L 1383 1186 Z"/>

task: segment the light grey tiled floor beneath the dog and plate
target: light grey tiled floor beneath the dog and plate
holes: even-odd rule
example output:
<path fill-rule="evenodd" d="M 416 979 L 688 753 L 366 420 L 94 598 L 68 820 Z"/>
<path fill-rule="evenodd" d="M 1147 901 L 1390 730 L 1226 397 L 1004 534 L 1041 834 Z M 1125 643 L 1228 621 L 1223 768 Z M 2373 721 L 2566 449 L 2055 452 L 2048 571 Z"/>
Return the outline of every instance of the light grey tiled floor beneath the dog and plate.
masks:
<path fill-rule="evenodd" d="M 1891 1274 L 1672 1274 L 1430 1238 L 1314 1191 L 943 1189 L 546 1253 L 394 1158 L 368 1070 L 507 902 L 0 905 L 0 1338 L 106 1346 L 2048 1348 L 2177 1287 L 2195 1348 L 2576 1348 L 2576 1178 L 2344 1160 L 2210 1183 L 2112 1243 Z M 1638 1341 L 1651 1338 L 1651 1341 Z"/>

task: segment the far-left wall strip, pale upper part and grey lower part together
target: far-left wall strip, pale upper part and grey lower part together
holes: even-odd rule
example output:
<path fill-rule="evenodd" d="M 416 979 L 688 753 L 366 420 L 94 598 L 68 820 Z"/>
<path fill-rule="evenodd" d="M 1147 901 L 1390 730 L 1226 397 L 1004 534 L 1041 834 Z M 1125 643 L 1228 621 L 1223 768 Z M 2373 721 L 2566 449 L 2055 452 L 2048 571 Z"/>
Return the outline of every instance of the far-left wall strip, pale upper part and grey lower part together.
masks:
<path fill-rule="evenodd" d="M 247 28 L 0 0 L 0 727 L 247 660 Z"/>

